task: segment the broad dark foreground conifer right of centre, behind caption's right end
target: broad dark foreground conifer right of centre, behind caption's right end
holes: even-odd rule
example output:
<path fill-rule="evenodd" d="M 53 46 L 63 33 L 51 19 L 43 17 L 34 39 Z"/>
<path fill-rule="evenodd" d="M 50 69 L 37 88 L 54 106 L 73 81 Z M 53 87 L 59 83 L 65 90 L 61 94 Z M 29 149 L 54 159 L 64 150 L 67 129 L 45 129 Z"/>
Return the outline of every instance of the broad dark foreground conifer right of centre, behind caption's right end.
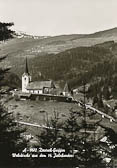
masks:
<path fill-rule="evenodd" d="M 70 112 L 70 116 L 63 127 L 64 134 L 60 139 L 60 147 L 65 149 L 67 153 L 74 155 L 73 158 L 69 159 L 71 167 L 99 168 L 103 166 L 104 168 L 105 164 L 103 164 L 99 153 L 99 144 L 87 140 L 89 135 L 85 132 L 86 123 L 84 120 L 79 122 L 78 118 L 77 112 Z"/>

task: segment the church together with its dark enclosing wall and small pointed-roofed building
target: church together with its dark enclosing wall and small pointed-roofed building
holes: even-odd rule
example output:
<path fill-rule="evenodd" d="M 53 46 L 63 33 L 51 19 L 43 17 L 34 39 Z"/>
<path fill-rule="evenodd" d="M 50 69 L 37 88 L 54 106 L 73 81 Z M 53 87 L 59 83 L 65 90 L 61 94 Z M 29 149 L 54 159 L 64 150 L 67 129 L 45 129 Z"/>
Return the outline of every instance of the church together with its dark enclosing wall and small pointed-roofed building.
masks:
<path fill-rule="evenodd" d="M 22 75 L 22 92 L 18 96 L 22 100 L 52 100 L 60 102 L 71 102 L 73 100 L 68 83 L 62 89 L 59 83 L 52 80 L 32 81 L 27 59 L 25 72 Z"/>

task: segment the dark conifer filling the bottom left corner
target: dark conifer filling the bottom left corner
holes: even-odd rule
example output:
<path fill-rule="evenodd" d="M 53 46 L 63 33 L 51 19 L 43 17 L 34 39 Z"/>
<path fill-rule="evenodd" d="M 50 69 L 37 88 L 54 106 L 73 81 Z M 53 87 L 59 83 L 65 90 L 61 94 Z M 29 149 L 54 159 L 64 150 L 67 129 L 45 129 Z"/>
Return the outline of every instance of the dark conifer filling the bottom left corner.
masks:
<path fill-rule="evenodd" d="M 27 146 L 23 128 L 14 122 L 12 113 L 0 105 L 0 167 L 15 167 L 25 164 L 25 159 L 13 158 L 12 153 L 22 152 Z"/>

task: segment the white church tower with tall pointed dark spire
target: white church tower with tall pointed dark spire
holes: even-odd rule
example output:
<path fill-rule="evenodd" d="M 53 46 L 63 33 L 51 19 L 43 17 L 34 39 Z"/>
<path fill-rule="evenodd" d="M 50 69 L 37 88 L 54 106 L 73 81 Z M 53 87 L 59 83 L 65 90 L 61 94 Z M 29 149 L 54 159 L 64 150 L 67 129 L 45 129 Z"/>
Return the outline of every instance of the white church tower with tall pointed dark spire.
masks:
<path fill-rule="evenodd" d="M 28 93 L 27 86 L 31 82 L 31 76 L 28 71 L 28 63 L 26 58 L 25 72 L 22 75 L 22 92 Z"/>

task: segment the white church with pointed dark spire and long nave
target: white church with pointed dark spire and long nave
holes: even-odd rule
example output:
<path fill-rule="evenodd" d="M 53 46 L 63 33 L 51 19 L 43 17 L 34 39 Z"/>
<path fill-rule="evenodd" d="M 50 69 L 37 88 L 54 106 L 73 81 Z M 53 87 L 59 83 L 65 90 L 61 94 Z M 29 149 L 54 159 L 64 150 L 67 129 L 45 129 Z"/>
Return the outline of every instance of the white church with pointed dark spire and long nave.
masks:
<path fill-rule="evenodd" d="M 52 94 L 56 89 L 52 80 L 46 81 L 32 81 L 32 77 L 28 70 L 28 63 L 26 58 L 25 72 L 22 75 L 22 93 L 31 94 Z"/>

